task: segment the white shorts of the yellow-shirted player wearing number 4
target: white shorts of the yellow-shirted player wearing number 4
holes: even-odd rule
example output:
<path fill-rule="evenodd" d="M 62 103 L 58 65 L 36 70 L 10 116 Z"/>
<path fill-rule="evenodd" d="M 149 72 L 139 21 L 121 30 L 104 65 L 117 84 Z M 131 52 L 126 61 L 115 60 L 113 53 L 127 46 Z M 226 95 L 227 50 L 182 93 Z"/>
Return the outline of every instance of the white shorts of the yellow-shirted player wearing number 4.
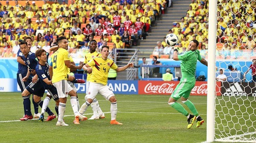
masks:
<path fill-rule="evenodd" d="M 112 96 L 115 96 L 114 93 L 109 89 L 108 85 L 90 82 L 90 84 L 88 85 L 88 92 L 85 98 L 94 99 L 98 93 L 108 100 Z"/>

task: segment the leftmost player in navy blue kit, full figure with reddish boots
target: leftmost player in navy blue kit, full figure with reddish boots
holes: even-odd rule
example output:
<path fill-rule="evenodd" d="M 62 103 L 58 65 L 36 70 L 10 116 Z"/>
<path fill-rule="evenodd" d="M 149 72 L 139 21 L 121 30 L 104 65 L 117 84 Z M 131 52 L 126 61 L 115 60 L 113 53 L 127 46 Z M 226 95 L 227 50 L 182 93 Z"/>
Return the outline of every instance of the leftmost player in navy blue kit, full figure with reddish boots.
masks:
<path fill-rule="evenodd" d="M 24 108 L 26 110 L 26 114 L 24 118 L 20 119 L 22 121 L 33 119 L 31 108 L 30 108 L 30 94 L 34 94 L 34 100 L 39 105 L 42 106 L 43 101 L 41 101 L 41 97 L 45 93 L 45 88 L 38 82 L 38 77 L 35 74 L 35 67 L 37 65 L 37 58 L 35 57 L 35 53 L 29 51 L 28 43 L 26 41 L 22 41 L 19 44 L 20 51 L 22 51 L 23 56 L 26 58 L 26 65 L 29 68 L 28 74 L 23 78 L 23 81 L 27 81 L 30 73 L 33 75 L 32 82 L 26 87 L 26 89 L 22 92 L 22 97 L 24 100 Z M 54 115 L 53 112 L 47 108 L 46 112 L 48 112 L 49 116 Z M 54 116 L 53 116 L 54 117 Z M 56 116 L 55 116 L 56 118 Z M 52 118 L 54 119 L 54 118 Z"/>

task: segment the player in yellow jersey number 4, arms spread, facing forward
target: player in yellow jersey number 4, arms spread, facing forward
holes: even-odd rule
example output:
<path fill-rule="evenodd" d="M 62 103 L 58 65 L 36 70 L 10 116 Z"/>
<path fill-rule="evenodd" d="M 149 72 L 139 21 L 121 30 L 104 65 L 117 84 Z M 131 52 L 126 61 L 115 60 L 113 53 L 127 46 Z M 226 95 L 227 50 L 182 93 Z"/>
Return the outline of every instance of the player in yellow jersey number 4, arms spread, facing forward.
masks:
<path fill-rule="evenodd" d="M 109 46 L 102 46 L 101 56 L 97 56 L 96 58 L 92 59 L 89 63 L 83 66 L 83 70 L 88 71 L 88 73 L 92 72 L 92 75 L 90 78 L 90 85 L 86 97 L 87 101 L 82 104 L 79 113 L 80 115 L 83 115 L 83 113 L 93 102 L 93 99 L 96 97 L 96 95 L 100 93 L 105 99 L 108 99 L 111 102 L 110 124 L 122 125 L 122 123 L 116 121 L 117 100 L 115 98 L 114 93 L 109 89 L 106 83 L 108 82 L 108 74 L 110 68 L 116 70 L 117 72 L 121 72 L 126 70 L 127 68 L 133 67 L 133 63 L 129 63 L 123 67 L 117 67 L 114 61 L 109 59 L 108 56 Z"/>

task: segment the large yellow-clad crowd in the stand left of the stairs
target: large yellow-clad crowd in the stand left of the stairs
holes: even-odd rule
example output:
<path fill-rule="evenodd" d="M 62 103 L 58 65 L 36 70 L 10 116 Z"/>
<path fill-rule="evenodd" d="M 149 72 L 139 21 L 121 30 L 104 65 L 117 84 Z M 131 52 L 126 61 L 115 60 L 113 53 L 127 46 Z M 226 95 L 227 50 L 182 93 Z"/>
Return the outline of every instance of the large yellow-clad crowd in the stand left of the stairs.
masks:
<path fill-rule="evenodd" d="M 6 5 L 2 5 L 6 3 Z M 65 0 L 52 5 L 44 1 L 37 6 L 27 1 L 22 6 L 15 1 L 0 2 L 0 57 L 15 57 L 18 43 L 24 37 L 32 38 L 32 52 L 38 48 L 48 49 L 59 36 L 66 36 L 69 52 L 83 58 L 89 52 L 88 42 L 95 39 L 98 47 L 105 42 L 111 48 L 137 45 L 137 40 L 146 34 L 156 17 L 163 13 L 168 1 L 83 1 Z M 80 52 L 77 52 L 80 51 Z"/>

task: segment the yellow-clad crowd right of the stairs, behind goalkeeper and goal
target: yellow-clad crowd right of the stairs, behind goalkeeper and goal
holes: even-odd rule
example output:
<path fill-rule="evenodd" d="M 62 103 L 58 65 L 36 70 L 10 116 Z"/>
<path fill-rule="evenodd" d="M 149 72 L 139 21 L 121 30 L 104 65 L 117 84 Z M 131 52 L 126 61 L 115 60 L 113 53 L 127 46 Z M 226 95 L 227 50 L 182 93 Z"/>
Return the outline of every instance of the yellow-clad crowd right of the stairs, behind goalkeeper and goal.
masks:
<path fill-rule="evenodd" d="M 255 26 L 255 1 L 230 1 L 219 0 L 217 5 L 217 49 L 218 59 L 253 59 L 256 26 Z M 200 42 L 199 50 L 202 58 L 207 59 L 208 49 L 208 1 L 191 0 L 186 16 L 173 23 L 173 28 L 169 33 L 174 33 L 179 38 L 179 54 L 186 51 L 189 41 L 196 39 Z M 153 51 L 153 55 L 161 58 L 172 59 L 174 47 L 158 41 Z"/>

